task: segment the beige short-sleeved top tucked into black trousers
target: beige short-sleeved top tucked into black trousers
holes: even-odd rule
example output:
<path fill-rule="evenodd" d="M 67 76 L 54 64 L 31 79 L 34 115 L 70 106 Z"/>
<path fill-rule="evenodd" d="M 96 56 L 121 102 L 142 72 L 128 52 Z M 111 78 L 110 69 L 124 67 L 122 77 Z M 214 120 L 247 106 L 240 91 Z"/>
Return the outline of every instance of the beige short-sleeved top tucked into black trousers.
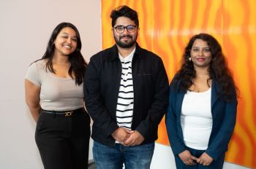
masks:
<path fill-rule="evenodd" d="M 32 63 L 26 72 L 26 79 L 41 87 L 40 105 L 49 111 L 68 111 L 83 107 L 83 83 L 75 79 L 61 78 L 45 69 L 45 60 Z"/>

